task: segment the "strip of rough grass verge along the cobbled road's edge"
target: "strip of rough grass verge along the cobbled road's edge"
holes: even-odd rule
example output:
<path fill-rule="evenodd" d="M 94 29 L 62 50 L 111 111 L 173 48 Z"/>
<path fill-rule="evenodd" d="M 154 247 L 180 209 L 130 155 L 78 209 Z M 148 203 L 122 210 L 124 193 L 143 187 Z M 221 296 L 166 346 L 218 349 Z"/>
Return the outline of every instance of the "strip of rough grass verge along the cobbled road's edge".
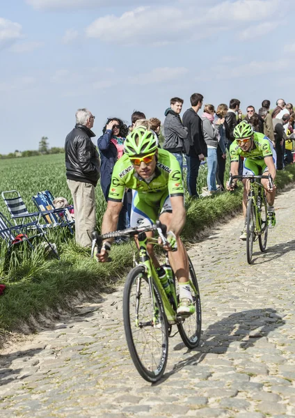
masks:
<path fill-rule="evenodd" d="M 279 171 L 278 190 L 295 181 L 295 164 Z M 183 238 L 191 241 L 205 227 L 223 222 L 231 213 L 241 210 L 242 189 L 234 193 L 200 199 L 186 196 L 187 221 Z M 72 298 L 79 293 L 111 291 L 119 278 L 132 265 L 130 244 L 112 248 L 111 263 L 99 264 L 90 259 L 90 251 L 74 245 L 72 240 L 59 245 L 61 261 L 46 260 L 35 251 L 13 250 L 10 263 L 5 262 L 0 249 L 0 282 L 7 285 L 0 296 L 0 336 L 8 331 L 22 330 L 26 323 L 34 329 L 30 319 L 45 314 L 47 309 L 70 307 Z M 15 252 L 14 252 L 15 251 Z M 17 252 L 16 252 L 17 251 Z"/>

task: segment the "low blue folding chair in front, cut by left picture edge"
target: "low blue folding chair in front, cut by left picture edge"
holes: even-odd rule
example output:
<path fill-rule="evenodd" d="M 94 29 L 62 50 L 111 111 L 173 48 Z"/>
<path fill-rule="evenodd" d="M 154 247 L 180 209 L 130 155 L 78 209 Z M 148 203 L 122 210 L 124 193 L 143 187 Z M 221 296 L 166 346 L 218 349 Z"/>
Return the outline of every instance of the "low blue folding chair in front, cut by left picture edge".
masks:
<path fill-rule="evenodd" d="M 31 235 L 32 226 L 35 226 L 35 231 L 33 235 Z M 51 242 L 47 240 L 46 232 L 40 229 L 36 221 L 13 226 L 13 224 L 11 224 L 8 221 L 8 219 L 3 215 L 3 213 L 0 212 L 0 238 L 6 241 L 8 251 L 10 251 L 13 245 L 17 245 L 24 241 L 28 243 L 29 247 L 31 247 L 32 250 L 34 250 L 35 247 L 33 246 L 31 241 L 35 238 L 41 238 L 45 240 L 45 242 L 47 243 L 46 246 L 53 252 L 54 256 L 56 256 L 56 258 L 58 259 L 60 258 L 54 245 L 52 245 Z"/>

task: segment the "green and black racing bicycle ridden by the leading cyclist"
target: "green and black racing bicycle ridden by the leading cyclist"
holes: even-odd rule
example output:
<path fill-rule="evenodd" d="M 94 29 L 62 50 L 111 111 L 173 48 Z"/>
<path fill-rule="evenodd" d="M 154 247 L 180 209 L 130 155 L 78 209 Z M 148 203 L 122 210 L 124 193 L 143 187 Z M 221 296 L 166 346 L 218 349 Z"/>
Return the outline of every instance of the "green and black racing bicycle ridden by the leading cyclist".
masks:
<path fill-rule="evenodd" d="M 172 293 L 167 295 L 150 258 L 147 245 L 158 244 L 157 238 L 148 238 L 148 231 L 157 231 L 163 245 L 166 245 L 166 226 L 157 221 L 152 226 L 138 226 L 123 231 L 99 235 L 93 233 L 92 256 L 97 247 L 100 252 L 102 240 L 117 237 L 138 239 L 139 263 L 134 251 L 134 268 L 127 275 L 123 293 L 123 320 L 125 336 L 131 359 L 138 373 L 148 382 L 157 382 L 164 374 L 168 359 L 168 337 L 176 325 L 182 341 L 188 348 L 196 348 L 200 342 L 201 304 L 196 273 L 189 259 L 189 283 L 195 314 L 186 318 L 177 315 L 179 290 L 175 274 L 170 274 Z M 166 253 L 166 271 L 172 272 Z M 169 270 L 170 268 L 170 270 Z"/>

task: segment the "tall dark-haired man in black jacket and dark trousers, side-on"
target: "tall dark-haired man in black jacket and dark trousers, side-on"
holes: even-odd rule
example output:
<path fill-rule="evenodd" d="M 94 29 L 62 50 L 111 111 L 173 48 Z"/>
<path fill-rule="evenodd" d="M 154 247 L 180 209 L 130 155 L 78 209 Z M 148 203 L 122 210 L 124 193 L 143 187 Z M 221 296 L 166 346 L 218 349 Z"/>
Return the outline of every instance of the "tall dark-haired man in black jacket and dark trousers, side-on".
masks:
<path fill-rule="evenodd" d="M 198 111 L 202 107 L 203 96 L 200 93 L 191 95 L 191 107 L 184 112 L 182 123 L 187 128 L 184 139 L 186 152 L 187 177 L 186 183 L 190 196 L 198 198 L 197 178 L 201 161 L 207 157 L 207 145 L 202 130 L 202 119 Z"/>

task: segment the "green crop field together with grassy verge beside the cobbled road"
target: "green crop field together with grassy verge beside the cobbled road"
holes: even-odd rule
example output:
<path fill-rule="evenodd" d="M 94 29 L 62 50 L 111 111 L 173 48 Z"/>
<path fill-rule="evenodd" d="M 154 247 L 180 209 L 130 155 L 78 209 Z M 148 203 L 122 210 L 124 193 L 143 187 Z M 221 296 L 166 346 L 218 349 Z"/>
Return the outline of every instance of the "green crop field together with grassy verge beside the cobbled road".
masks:
<path fill-rule="evenodd" d="M 0 192 L 16 189 L 29 210 L 35 211 L 31 196 L 49 189 L 54 196 L 64 196 L 71 202 L 65 180 L 64 155 L 0 160 Z M 276 184 L 282 188 L 294 181 L 295 164 L 278 175 Z M 206 185 L 206 169 L 200 171 L 199 188 Z M 96 187 L 97 228 L 100 228 L 106 204 L 102 191 Z M 223 221 L 230 213 L 241 209 L 241 188 L 234 193 L 193 201 L 186 194 L 187 219 L 184 240 L 198 238 L 198 231 L 213 222 Z M 0 210 L 8 218 L 3 199 Z M 72 235 L 56 230 L 49 233 L 56 242 L 61 261 L 48 258 L 42 251 L 29 251 L 25 245 L 14 246 L 8 256 L 6 242 L 0 242 L 0 283 L 7 285 L 0 296 L 0 334 L 22 329 L 22 323 L 31 324 L 31 318 L 44 314 L 48 308 L 68 307 L 71 297 L 81 292 L 110 291 L 132 265 L 130 244 L 113 245 L 111 263 L 99 264 L 90 258 L 90 249 L 74 244 Z M 22 247 L 22 248 L 21 248 Z"/>

